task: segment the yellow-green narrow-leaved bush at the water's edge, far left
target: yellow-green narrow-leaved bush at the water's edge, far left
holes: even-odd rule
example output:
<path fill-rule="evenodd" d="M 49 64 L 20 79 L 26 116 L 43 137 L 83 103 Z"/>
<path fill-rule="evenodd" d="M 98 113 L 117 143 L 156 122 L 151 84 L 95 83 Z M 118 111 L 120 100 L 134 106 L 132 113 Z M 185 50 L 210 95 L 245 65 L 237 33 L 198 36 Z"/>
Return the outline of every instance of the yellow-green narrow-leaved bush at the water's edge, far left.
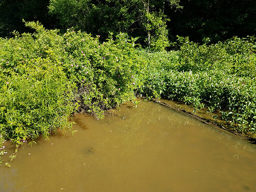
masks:
<path fill-rule="evenodd" d="M 3 79 L 0 92 L 1 135 L 20 144 L 28 138 L 48 135 L 56 128 L 70 126 L 68 116 L 74 111 L 74 85 L 55 66 L 42 60 L 41 67 Z M 48 64 L 48 66 L 47 66 Z"/>

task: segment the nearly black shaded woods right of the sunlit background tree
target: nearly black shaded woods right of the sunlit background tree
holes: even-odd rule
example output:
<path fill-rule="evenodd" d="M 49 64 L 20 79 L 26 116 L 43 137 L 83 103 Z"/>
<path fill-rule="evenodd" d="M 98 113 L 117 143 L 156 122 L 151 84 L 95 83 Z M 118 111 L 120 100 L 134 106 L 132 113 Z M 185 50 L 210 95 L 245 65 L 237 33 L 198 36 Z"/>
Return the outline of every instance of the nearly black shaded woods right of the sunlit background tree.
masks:
<path fill-rule="evenodd" d="M 183 0 L 180 5 L 184 8 L 177 12 L 165 10 L 173 39 L 179 35 L 194 42 L 216 43 L 256 34 L 256 1 Z"/>

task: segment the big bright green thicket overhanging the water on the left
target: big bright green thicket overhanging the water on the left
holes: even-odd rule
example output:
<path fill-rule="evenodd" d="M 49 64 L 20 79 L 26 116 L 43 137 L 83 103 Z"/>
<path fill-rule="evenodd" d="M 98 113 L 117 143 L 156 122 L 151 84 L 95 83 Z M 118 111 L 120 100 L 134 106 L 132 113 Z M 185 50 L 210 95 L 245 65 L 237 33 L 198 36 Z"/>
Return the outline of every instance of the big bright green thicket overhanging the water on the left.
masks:
<path fill-rule="evenodd" d="M 104 110 L 134 98 L 143 65 L 136 39 L 109 35 L 100 43 L 99 35 L 73 29 L 61 35 L 39 23 L 26 26 L 36 32 L 0 38 L 1 145 L 47 139 L 58 128 L 72 129 L 68 117 L 75 111 L 101 118 Z"/>

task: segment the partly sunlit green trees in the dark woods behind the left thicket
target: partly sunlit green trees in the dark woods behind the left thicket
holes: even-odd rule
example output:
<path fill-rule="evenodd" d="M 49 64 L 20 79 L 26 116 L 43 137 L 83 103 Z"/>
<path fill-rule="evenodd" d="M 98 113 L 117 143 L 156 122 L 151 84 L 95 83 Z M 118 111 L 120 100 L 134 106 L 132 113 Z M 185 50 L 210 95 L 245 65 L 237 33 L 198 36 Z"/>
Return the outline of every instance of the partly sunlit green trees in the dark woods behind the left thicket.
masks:
<path fill-rule="evenodd" d="M 165 3 L 180 8 L 179 0 L 50 0 L 49 12 L 57 15 L 64 27 L 104 38 L 109 31 L 122 31 L 140 36 L 152 49 L 163 50 L 169 44 Z"/>

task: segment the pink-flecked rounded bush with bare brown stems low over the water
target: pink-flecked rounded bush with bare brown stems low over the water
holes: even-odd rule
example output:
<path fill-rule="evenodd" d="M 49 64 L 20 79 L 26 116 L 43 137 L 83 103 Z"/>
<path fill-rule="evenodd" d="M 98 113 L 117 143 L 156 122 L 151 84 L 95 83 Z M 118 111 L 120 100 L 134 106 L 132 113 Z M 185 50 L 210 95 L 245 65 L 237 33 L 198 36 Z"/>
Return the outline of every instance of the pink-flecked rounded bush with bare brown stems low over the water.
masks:
<path fill-rule="evenodd" d="M 88 112 L 102 116 L 105 109 L 134 97 L 136 71 L 143 61 L 120 33 L 100 44 L 99 36 L 68 30 L 64 34 L 61 65 L 69 79 L 79 85 L 78 100 Z"/>

